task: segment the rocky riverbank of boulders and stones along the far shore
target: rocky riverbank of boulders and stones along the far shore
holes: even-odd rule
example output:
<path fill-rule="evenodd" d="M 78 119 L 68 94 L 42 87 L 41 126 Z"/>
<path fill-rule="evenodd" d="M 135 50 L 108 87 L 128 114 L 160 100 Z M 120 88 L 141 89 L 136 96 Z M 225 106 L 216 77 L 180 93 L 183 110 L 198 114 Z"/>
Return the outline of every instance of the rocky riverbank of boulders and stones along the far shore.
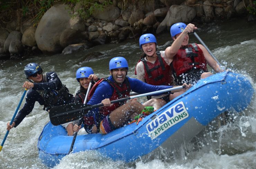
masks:
<path fill-rule="evenodd" d="M 169 31 L 176 22 L 212 22 L 241 16 L 255 21 L 255 16 L 247 11 L 251 0 L 138 0 L 126 8 L 123 2 L 113 0 L 103 10 L 94 10 L 86 20 L 78 15 L 82 8 L 79 3 L 73 8 L 67 4 L 52 6 L 37 27 L 31 20 L 19 26 L 17 19 L 13 19 L 0 28 L 0 59 L 41 52 L 67 54 L 126 39 L 138 41 L 141 34 Z"/>

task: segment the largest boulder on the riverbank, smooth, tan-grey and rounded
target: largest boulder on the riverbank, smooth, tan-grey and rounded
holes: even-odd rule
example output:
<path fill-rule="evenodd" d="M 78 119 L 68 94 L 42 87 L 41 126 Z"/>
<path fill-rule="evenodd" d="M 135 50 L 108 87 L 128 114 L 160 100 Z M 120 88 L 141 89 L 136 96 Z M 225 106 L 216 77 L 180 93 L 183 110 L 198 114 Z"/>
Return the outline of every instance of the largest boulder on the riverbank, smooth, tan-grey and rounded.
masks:
<path fill-rule="evenodd" d="M 45 12 L 35 33 L 37 46 L 43 53 L 62 51 L 60 36 L 69 28 L 70 11 L 67 5 L 59 4 Z"/>

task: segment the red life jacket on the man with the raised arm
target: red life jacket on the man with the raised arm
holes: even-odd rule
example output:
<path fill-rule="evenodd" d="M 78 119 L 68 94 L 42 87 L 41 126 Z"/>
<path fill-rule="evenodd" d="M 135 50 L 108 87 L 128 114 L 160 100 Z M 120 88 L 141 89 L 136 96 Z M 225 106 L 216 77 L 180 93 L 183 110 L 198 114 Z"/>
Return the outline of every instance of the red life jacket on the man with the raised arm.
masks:
<path fill-rule="evenodd" d="M 173 57 L 171 67 L 175 78 L 190 70 L 202 69 L 204 71 L 208 71 L 203 51 L 196 43 L 191 43 L 186 47 L 181 47 Z"/>

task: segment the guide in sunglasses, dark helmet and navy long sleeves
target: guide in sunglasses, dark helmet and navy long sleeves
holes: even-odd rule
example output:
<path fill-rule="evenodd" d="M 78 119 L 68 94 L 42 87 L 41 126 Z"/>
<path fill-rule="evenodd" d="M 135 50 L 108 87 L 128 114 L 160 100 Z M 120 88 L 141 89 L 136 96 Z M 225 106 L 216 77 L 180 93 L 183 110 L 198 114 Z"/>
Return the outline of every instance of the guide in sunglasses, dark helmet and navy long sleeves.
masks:
<path fill-rule="evenodd" d="M 27 79 L 23 88 L 29 89 L 26 102 L 13 120 L 12 125 L 7 123 L 7 130 L 17 127 L 19 123 L 33 110 L 35 102 L 44 105 L 44 110 L 49 111 L 53 106 L 71 103 L 74 100 L 65 85 L 62 84 L 55 72 L 43 74 L 42 68 L 37 63 L 29 63 L 24 68 Z"/>

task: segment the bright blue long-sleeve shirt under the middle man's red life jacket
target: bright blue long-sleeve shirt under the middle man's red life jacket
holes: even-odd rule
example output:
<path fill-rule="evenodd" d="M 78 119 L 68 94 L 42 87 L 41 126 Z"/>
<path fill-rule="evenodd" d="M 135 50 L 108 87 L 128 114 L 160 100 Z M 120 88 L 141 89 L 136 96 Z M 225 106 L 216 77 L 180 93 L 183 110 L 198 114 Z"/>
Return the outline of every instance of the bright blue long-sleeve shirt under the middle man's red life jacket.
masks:
<path fill-rule="evenodd" d="M 136 93 L 148 93 L 148 92 L 172 88 L 172 86 L 153 86 L 151 84 L 147 84 L 138 79 L 129 78 L 129 77 L 127 78 L 130 83 L 131 91 L 134 91 Z M 114 79 L 112 78 L 112 76 L 108 77 L 108 79 L 114 82 Z M 102 100 L 106 98 L 111 98 L 111 96 L 113 95 L 113 92 L 114 92 L 114 88 L 107 81 L 102 81 L 99 84 L 99 86 L 95 89 L 95 92 L 93 93 L 92 98 L 89 100 L 87 104 L 96 105 L 98 103 L 101 103 Z M 159 93 L 157 95 L 161 95 L 161 94 L 163 93 Z M 88 114 L 86 114 L 85 116 L 94 115 L 95 117 L 97 113 L 99 113 L 99 108 L 94 108 L 92 110 L 89 110 Z"/>

